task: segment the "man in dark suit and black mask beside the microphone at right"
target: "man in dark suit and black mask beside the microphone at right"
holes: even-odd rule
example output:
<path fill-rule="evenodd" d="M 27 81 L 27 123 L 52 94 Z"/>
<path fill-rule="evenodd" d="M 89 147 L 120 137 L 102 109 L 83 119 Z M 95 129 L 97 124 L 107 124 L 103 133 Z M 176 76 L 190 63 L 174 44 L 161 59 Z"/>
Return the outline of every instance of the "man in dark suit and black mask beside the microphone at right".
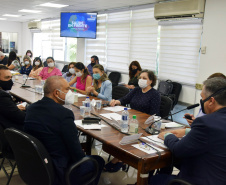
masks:
<path fill-rule="evenodd" d="M 226 80 L 212 78 L 204 82 L 201 107 L 205 116 L 196 118 L 191 130 L 161 133 L 165 145 L 181 159 L 179 178 L 197 185 L 226 184 Z M 175 134 L 175 135 L 174 135 Z M 179 140 L 177 137 L 183 137 Z M 176 137 L 177 136 L 177 137 Z M 160 174 L 151 185 L 167 184 L 175 178 Z"/>

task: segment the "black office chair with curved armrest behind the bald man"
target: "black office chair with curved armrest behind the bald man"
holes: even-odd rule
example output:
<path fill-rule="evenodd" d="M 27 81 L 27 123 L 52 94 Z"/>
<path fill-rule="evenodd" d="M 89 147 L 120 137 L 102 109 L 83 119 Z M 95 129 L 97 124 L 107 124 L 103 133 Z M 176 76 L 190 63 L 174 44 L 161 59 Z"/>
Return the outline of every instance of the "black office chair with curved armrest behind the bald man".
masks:
<path fill-rule="evenodd" d="M 54 182 L 55 172 L 52 160 L 43 144 L 33 136 L 8 128 L 5 136 L 14 152 L 20 177 L 28 185 L 51 185 Z M 86 161 L 94 163 L 96 169 L 84 177 L 83 184 L 92 183 L 98 174 L 98 163 L 92 158 L 84 157 L 73 164 L 66 172 L 66 183 L 70 185 L 70 173 Z"/>

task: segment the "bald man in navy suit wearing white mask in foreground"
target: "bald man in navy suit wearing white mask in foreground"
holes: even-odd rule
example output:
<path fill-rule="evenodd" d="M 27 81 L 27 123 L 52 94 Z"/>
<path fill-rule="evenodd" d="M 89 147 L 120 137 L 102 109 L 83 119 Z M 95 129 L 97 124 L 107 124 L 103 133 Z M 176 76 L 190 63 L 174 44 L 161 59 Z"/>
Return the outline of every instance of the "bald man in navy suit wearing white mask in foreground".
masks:
<path fill-rule="evenodd" d="M 39 139 L 49 152 L 56 170 L 55 184 L 65 184 L 67 168 L 81 160 L 85 154 L 78 139 L 78 131 L 74 123 L 74 114 L 62 106 L 74 103 L 74 95 L 68 82 L 61 76 L 49 77 L 44 85 L 44 97 L 29 106 L 25 118 L 24 130 Z M 92 156 L 99 163 L 99 174 L 95 180 L 98 184 L 104 160 L 100 156 Z M 80 185 L 79 177 L 92 171 L 92 165 L 80 167 L 73 174 L 73 185 Z"/>

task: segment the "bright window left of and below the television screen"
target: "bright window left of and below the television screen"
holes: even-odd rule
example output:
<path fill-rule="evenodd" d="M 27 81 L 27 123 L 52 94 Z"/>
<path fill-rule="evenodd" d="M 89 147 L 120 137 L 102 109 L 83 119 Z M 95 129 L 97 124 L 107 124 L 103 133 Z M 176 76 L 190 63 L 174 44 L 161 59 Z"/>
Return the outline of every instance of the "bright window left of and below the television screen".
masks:
<path fill-rule="evenodd" d="M 46 59 L 52 56 L 55 60 L 76 61 L 77 39 L 60 37 L 60 20 L 43 21 L 41 32 L 33 35 L 34 56 Z"/>

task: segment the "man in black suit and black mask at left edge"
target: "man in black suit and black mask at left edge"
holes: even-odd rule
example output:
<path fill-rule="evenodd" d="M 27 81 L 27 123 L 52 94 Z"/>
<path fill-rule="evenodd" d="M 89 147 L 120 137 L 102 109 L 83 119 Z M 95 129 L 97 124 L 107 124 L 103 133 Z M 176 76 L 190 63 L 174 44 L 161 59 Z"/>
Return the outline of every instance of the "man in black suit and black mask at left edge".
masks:
<path fill-rule="evenodd" d="M 25 107 L 17 106 L 9 91 L 13 86 L 10 70 L 0 65 L 0 124 L 4 128 L 14 127 L 22 130 L 26 113 Z"/>

